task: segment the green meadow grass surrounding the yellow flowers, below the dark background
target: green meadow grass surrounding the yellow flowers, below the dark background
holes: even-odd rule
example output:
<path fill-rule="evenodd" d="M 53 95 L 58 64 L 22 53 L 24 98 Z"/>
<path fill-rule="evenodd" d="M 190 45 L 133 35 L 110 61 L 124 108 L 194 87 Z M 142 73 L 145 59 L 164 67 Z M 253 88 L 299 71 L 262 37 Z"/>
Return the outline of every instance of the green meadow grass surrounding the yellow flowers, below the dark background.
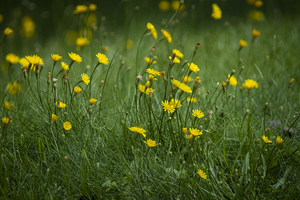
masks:
<path fill-rule="evenodd" d="M 155 40 L 150 30 L 144 33 L 151 20 L 135 12 L 137 7 L 130 9 L 125 30 L 113 34 L 102 18 L 91 29 L 90 44 L 77 49 L 61 38 L 43 43 L 2 38 L 1 199 L 298 199 L 298 18 L 210 19 L 195 28 L 195 19 L 188 22 L 176 11 L 162 23 L 165 16 L 152 18 Z M 75 20 L 82 31 L 83 14 Z M 170 32 L 172 43 L 160 28 Z M 254 39 L 253 29 L 260 31 Z M 240 48 L 240 39 L 248 45 Z M 173 49 L 184 54 L 180 63 L 173 63 Z M 71 61 L 71 51 L 82 61 Z M 25 79 L 20 64 L 5 61 L 9 52 L 21 57 L 38 53 L 44 65 L 35 72 L 25 68 Z M 99 63 L 99 52 L 108 64 Z M 50 54 L 56 53 L 62 60 L 52 67 Z M 185 60 L 199 71 L 190 71 Z M 70 69 L 61 70 L 61 61 Z M 149 68 L 166 77 L 154 76 L 157 80 L 146 85 Z M 88 84 L 80 82 L 83 73 Z M 236 86 L 229 84 L 230 74 Z M 191 77 L 191 92 L 171 82 L 183 82 L 184 75 Z M 258 88 L 243 88 L 247 79 Z M 7 87 L 8 82 L 21 84 L 21 90 Z M 141 92 L 139 84 L 152 84 L 153 94 Z M 82 89 L 76 95 L 75 85 Z M 57 108 L 58 98 L 66 107 Z M 90 103 L 91 98 L 97 101 Z M 178 99 L 173 107 L 164 103 Z M 195 109 L 203 116 L 192 115 Z M 66 121 L 70 130 L 63 126 Z M 202 134 L 190 136 L 189 128 Z M 138 133 L 142 129 L 146 137 Z M 148 147 L 147 139 L 157 145 Z"/>

